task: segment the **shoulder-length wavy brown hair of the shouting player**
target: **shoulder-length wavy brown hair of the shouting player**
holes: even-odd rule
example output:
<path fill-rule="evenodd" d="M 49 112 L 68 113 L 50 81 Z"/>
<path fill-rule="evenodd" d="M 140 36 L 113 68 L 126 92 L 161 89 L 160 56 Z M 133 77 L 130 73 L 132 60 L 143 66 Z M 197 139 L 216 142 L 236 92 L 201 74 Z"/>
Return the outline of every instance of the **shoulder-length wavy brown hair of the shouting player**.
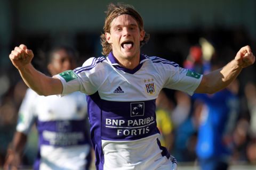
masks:
<path fill-rule="evenodd" d="M 121 4 L 118 3 L 117 5 L 110 3 L 108 5 L 108 10 L 106 11 L 107 17 L 105 19 L 105 24 L 103 26 L 104 33 L 100 36 L 100 42 L 102 45 L 102 54 L 108 55 L 111 50 L 112 46 L 108 43 L 105 37 L 106 32 L 110 32 L 110 23 L 119 15 L 128 14 L 131 15 L 138 23 L 140 31 L 143 30 L 143 20 L 140 14 L 134 9 L 131 5 Z M 149 40 L 149 34 L 145 32 L 144 39 L 140 42 L 140 47 L 145 45 Z"/>

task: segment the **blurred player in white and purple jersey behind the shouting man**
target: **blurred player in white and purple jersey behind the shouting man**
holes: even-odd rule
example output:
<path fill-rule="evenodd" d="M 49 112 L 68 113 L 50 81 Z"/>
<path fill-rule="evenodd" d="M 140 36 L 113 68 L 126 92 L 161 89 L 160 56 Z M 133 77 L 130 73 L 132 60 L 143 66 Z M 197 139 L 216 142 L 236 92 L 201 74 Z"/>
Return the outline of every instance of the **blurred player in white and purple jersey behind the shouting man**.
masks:
<path fill-rule="evenodd" d="M 74 69 L 76 59 L 74 49 L 54 48 L 47 69 L 51 75 Z M 34 169 L 89 169 L 91 145 L 85 94 L 73 92 L 63 98 L 44 97 L 28 89 L 19 109 L 17 132 L 4 169 L 22 165 L 22 152 L 33 124 L 39 136 Z"/>

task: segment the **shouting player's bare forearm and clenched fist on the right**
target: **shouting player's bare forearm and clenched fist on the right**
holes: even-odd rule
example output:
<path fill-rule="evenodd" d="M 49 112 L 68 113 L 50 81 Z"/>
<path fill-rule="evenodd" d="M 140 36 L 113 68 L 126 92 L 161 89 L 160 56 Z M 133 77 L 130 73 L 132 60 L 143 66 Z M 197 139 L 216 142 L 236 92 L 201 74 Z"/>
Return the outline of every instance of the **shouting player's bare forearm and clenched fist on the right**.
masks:
<path fill-rule="evenodd" d="M 195 93 L 214 94 L 215 92 L 227 87 L 243 68 L 255 62 L 250 46 L 242 47 L 236 54 L 234 60 L 223 68 L 204 74 L 201 83 Z"/>

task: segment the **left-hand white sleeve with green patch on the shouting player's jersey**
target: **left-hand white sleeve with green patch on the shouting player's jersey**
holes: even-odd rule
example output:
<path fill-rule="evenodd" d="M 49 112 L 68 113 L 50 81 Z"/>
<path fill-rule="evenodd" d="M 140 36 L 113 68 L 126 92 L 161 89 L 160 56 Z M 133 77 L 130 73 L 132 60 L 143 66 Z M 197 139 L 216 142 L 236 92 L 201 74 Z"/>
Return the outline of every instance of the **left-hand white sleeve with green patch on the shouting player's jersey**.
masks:
<path fill-rule="evenodd" d="M 62 95 L 70 94 L 71 92 L 81 91 L 87 95 L 94 94 L 98 90 L 97 82 L 97 58 L 89 58 L 85 61 L 82 67 L 77 67 L 75 70 L 68 70 L 60 74 L 54 75 L 61 80 L 63 85 Z"/>

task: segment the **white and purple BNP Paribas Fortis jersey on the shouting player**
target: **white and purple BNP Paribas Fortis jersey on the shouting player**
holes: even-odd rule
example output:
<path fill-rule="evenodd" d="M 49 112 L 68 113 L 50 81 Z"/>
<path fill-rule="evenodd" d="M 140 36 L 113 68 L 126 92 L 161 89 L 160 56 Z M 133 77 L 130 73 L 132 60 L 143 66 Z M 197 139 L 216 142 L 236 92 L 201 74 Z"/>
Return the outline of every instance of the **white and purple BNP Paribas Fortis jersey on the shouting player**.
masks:
<path fill-rule="evenodd" d="M 163 88 L 192 95 L 202 76 L 159 57 L 140 56 L 133 70 L 121 67 L 112 53 L 90 58 L 82 67 L 55 75 L 62 95 L 87 97 L 97 169 L 171 169 L 167 149 L 158 140 L 155 100 Z"/>

